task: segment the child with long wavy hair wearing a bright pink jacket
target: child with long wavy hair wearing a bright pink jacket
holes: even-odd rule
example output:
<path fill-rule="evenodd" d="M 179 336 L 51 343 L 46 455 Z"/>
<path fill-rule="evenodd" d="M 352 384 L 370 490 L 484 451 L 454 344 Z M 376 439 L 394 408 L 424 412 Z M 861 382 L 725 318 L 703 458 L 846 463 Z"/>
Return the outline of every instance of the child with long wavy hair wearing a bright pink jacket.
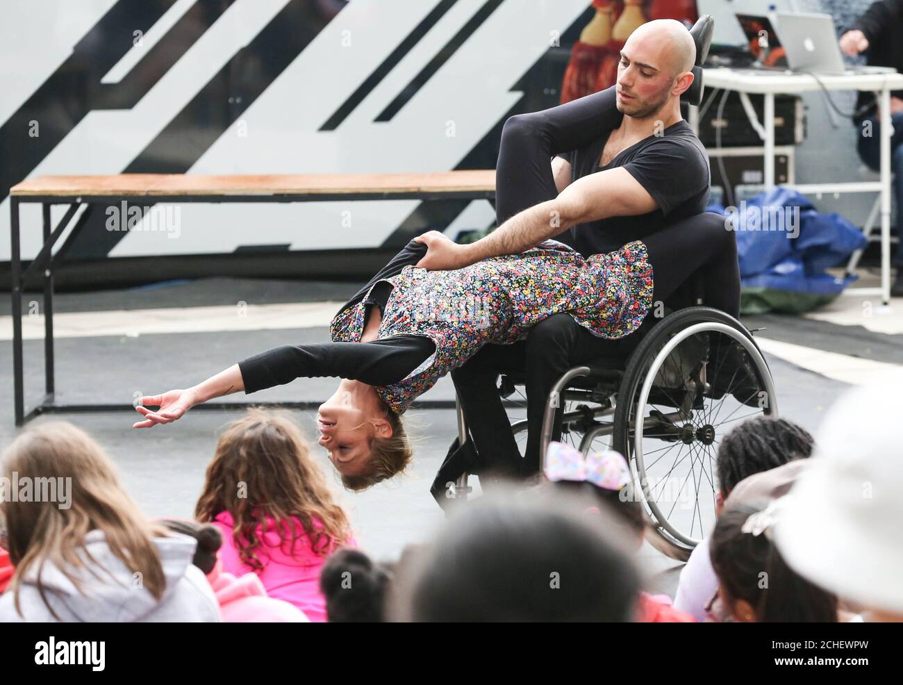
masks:
<path fill-rule="evenodd" d="M 252 409 L 228 425 L 195 518 L 222 532 L 222 571 L 239 578 L 253 573 L 267 596 L 296 606 L 312 622 L 326 621 L 321 568 L 335 549 L 357 543 L 287 415 Z"/>

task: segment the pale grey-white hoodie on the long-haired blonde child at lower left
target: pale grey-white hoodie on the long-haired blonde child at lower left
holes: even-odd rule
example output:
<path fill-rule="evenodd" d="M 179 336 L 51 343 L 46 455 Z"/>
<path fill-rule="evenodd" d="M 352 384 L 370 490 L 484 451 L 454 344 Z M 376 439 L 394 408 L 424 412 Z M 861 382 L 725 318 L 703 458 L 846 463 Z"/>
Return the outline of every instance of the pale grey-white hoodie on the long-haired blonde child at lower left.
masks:
<path fill-rule="evenodd" d="M 101 530 L 85 536 L 85 547 L 96 564 L 82 553 L 86 567 L 75 569 L 82 583 L 77 586 L 56 564 L 44 564 L 41 579 L 44 595 L 53 611 L 65 623 L 200 622 L 219 623 L 219 605 L 204 572 L 191 563 L 197 540 L 178 533 L 154 538 L 163 564 L 166 587 L 158 602 L 107 546 Z M 99 567 L 99 568 L 98 568 Z M 19 584 L 19 605 L 15 610 L 10 589 L 0 595 L 0 622 L 54 622 L 35 585 L 37 568 Z"/>

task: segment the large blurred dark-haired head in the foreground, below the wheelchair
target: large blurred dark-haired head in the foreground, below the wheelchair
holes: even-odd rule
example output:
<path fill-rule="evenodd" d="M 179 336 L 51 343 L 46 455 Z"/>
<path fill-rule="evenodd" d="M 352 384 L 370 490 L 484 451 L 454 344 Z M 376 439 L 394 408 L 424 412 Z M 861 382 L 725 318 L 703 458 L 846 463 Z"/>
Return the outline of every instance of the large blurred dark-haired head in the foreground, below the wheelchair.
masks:
<path fill-rule="evenodd" d="M 484 496 L 400 565 L 392 616 L 415 622 L 629 622 L 639 578 L 585 507 Z M 600 512 L 600 516 L 607 515 Z"/>

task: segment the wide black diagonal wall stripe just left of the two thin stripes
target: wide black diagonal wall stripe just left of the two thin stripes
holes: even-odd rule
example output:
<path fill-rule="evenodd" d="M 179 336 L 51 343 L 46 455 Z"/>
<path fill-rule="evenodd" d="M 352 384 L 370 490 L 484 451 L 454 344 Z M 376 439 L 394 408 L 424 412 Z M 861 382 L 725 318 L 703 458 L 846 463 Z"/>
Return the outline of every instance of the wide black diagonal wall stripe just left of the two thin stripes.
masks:
<path fill-rule="evenodd" d="M 128 164 L 125 173 L 188 171 L 330 22 L 332 15 L 311 5 L 311 0 L 287 3 Z M 84 230 L 66 246 L 67 258 L 106 257 L 125 237 L 122 231 L 106 230 L 105 210 L 98 207 L 85 219 Z"/>

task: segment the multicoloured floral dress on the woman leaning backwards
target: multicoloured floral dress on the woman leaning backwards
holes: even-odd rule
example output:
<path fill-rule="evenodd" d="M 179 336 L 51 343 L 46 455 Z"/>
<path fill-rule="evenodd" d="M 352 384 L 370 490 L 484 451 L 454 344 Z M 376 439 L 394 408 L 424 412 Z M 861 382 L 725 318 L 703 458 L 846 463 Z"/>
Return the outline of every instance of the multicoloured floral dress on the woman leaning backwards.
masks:
<path fill-rule="evenodd" d="M 385 280 L 393 287 L 377 339 L 414 334 L 435 345 L 435 352 L 404 380 L 376 386 L 377 395 L 398 414 L 483 345 L 523 340 L 552 314 L 571 314 L 593 335 L 616 339 L 633 333 L 652 306 L 652 266 L 640 240 L 590 258 L 545 240 L 519 255 L 454 271 L 406 266 Z M 365 312 L 360 302 L 337 314 L 330 324 L 332 341 L 359 342 Z"/>

